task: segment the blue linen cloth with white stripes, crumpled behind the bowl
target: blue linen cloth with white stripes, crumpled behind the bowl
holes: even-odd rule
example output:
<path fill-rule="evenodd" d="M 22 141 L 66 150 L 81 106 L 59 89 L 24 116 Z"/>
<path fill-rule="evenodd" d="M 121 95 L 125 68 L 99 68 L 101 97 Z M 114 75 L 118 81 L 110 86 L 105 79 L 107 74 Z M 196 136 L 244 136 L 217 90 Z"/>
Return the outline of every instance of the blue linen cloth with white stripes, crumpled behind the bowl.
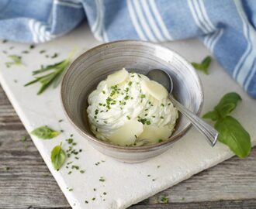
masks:
<path fill-rule="evenodd" d="M 198 37 L 256 98 L 255 0 L 1 0 L 0 39 L 43 43 L 85 19 L 103 42 Z"/>

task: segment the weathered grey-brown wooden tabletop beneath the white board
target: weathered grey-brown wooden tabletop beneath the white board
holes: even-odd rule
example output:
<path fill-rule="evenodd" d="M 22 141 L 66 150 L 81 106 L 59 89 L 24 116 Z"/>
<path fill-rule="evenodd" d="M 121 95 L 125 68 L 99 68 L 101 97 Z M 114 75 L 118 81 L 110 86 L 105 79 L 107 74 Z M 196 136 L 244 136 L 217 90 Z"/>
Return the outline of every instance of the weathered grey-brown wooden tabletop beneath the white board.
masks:
<path fill-rule="evenodd" d="M 163 196 L 168 204 L 159 203 Z M 1 87 L 0 208 L 71 208 Z M 256 208 L 256 149 L 247 159 L 233 157 L 130 208 Z"/>

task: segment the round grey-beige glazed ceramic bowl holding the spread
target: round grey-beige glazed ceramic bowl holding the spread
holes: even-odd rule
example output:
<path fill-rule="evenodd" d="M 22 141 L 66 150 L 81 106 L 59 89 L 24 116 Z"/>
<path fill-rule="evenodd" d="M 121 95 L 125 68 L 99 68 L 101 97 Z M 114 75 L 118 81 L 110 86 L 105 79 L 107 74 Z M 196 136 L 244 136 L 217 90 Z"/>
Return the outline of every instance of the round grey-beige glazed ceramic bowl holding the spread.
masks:
<path fill-rule="evenodd" d="M 90 131 L 85 111 L 88 94 L 108 74 L 123 67 L 139 74 L 147 74 L 156 68 L 166 70 L 172 77 L 175 97 L 197 114 L 202 107 L 202 86 L 194 68 L 184 58 L 168 48 L 143 41 L 125 40 L 102 44 L 81 54 L 71 63 L 61 84 L 61 100 L 71 124 L 99 152 L 126 163 L 138 163 L 169 149 L 188 132 L 191 124 L 187 118 L 179 115 L 170 139 L 150 146 L 115 146 L 95 138 Z"/>

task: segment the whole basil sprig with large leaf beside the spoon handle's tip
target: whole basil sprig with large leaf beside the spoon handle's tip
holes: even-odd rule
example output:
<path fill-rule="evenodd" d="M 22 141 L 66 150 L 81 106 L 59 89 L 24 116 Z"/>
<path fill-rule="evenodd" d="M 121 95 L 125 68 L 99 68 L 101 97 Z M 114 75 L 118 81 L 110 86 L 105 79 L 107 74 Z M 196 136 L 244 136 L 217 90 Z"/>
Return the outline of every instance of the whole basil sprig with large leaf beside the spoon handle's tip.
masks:
<path fill-rule="evenodd" d="M 218 140 L 229 146 L 237 156 L 244 158 L 251 152 L 251 137 L 240 122 L 229 115 L 237 107 L 238 101 L 241 101 L 239 94 L 225 94 L 213 111 L 207 112 L 202 118 L 214 121 L 214 127 L 219 132 Z"/>

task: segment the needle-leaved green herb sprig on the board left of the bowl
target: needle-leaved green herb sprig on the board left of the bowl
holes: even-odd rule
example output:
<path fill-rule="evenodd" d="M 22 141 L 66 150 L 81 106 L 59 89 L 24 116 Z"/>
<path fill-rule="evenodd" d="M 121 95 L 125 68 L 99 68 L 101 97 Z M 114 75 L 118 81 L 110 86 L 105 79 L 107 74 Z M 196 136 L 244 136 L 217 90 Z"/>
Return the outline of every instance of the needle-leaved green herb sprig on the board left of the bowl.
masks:
<path fill-rule="evenodd" d="M 57 87 L 57 85 L 61 82 L 63 72 L 67 69 L 67 66 L 70 63 L 73 54 L 74 50 L 70 53 L 69 57 L 67 57 L 66 60 L 63 60 L 59 63 L 54 63 L 53 65 L 48 65 L 46 67 L 42 66 L 40 70 L 33 71 L 33 76 L 35 76 L 35 79 L 25 84 L 25 87 L 39 82 L 41 84 L 41 87 L 40 90 L 37 92 L 38 95 L 42 94 L 43 91 L 45 91 L 47 87 L 50 86 L 50 84 L 53 84 L 53 87 Z M 50 71 L 50 73 L 45 74 L 48 71 Z M 43 75 L 38 76 L 41 74 Z"/>

